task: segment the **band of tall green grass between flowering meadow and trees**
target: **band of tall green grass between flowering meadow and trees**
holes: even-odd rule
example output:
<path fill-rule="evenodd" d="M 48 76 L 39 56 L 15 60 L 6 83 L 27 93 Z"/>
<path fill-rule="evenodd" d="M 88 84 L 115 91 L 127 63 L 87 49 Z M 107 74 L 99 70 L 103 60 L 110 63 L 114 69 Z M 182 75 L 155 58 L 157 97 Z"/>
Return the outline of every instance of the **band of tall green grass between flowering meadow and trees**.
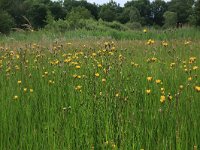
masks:
<path fill-rule="evenodd" d="M 139 30 L 118 31 L 114 29 L 108 30 L 72 30 L 55 32 L 51 30 L 39 30 L 37 32 L 13 32 L 10 35 L 1 35 L 0 42 L 14 42 L 14 41 L 35 41 L 39 42 L 41 39 L 53 41 L 55 39 L 101 39 L 111 38 L 116 40 L 181 40 L 192 39 L 198 40 L 200 38 L 200 30 L 198 28 L 184 27 L 181 29 L 166 29 L 166 30 L 154 30 L 150 29 L 146 34 Z"/>

